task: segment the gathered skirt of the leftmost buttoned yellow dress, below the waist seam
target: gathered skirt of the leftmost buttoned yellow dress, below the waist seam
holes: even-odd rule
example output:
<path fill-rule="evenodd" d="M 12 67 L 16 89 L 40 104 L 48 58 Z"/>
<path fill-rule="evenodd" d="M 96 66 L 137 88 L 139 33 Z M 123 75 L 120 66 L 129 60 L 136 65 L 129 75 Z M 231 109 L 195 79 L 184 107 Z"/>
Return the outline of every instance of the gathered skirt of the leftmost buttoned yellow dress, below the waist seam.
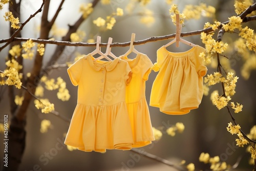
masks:
<path fill-rule="evenodd" d="M 129 120 L 125 102 L 110 106 L 87 106 L 78 103 L 65 144 L 85 152 L 129 150 L 134 143 Z"/>

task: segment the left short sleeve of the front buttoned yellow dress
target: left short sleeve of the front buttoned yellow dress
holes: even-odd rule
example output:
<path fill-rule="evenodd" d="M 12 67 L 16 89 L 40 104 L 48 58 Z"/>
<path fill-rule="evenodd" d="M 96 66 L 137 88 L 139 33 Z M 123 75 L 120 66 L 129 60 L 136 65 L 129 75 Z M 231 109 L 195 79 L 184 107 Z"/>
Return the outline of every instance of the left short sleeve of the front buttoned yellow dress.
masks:
<path fill-rule="evenodd" d="M 74 86 L 78 86 L 82 73 L 83 58 L 78 59 L 68 68 L 69 78 Z"/>

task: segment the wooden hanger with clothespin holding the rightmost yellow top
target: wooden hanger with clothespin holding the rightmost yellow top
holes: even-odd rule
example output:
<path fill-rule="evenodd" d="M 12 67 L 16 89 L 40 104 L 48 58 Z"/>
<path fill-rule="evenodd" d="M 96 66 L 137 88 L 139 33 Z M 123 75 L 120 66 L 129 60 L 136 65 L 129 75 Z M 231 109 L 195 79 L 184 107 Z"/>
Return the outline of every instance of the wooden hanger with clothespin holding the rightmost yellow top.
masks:
<path fill-rule="evenodd" d="M 180 37 L 181 29 L 182 29 L 182 25 L 180 24 L 180 14 L 176 14 L 176 36 L 175 36 L 174 40 L 172 40 L 172 41 L 168 42 L 168 44 L 164 45 L 165 48 L 172 45 L 174 42 L 176 42 L 177 48 L 180 46 L 180 42 L 183 42 L 184 44 L 192 46 L 192 47 L 196 46 L 195 44 L 193 44 L 187 40 L 184 40 L 183 38 Z"/>

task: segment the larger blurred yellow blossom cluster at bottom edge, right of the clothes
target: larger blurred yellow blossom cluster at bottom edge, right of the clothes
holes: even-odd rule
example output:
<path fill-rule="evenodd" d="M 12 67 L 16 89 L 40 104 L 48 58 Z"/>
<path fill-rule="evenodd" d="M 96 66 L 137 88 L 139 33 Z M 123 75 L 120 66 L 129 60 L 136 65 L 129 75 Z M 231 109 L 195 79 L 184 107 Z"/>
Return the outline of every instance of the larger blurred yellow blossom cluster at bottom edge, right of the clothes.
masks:
<path fill-rule="evenodd" d="M 201 153 L 199 157 L 200 162 L 209 163 L 211 170 L 226 170 L 228 168 L 226 162 L 221 162 L 219 156 L 210 157 L 208 153 Z"/>

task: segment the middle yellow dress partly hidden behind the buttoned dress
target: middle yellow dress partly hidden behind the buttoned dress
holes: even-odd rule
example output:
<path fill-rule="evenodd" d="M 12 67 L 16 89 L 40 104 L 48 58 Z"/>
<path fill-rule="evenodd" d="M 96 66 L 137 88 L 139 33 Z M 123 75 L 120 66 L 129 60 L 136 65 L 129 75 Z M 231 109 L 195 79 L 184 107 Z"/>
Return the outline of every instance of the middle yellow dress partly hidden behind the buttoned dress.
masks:
<path fill-rule="evenodd" d="M 120 58 L 129 63 L 133 72 L 132 80 L 126 87 L 125 101 L 132 124 L 133 147 L 142 147 L 155 140 L 145 97 L 145 81 L 151 73 L 153 63 L 142 53 L 138 53 L 134 59 L 127 56 Z"/>

